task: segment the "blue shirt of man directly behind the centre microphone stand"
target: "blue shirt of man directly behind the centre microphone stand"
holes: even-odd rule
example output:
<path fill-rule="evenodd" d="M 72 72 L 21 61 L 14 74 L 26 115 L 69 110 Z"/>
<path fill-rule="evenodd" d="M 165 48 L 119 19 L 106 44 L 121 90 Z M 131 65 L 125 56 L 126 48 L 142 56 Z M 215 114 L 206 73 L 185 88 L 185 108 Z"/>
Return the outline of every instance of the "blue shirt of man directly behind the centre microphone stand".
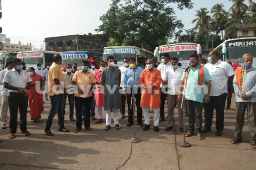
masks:
<path fill-rule="evenodd" d="M 142 68 L 137 67 L 135 71 L 135 80 L 134 80 L 134 86 L 140 85 L 140 74 L 142 72 Z M 126 92 L 126 87 L 133 87 L 133 76 L 134 76 L 134 69 L 127 68 L 124 71 L 123 75 L 123 92 Z"/>

